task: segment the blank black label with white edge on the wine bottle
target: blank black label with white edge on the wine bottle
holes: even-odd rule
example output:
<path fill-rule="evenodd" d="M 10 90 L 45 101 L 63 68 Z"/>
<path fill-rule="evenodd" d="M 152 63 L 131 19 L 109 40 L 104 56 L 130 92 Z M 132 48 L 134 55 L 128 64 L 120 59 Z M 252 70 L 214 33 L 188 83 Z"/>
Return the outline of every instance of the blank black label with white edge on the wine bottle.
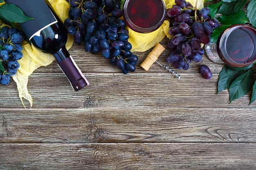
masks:
<path fill-rule="evenodd" d="M 5 0 L 5 2 L 16 5 L 24 12 L 25 16 L 34 18 L 20 23 L 29 40 L 34 36 L 40 36 L 41 30 L 57 22 L 44 0 Z"/>

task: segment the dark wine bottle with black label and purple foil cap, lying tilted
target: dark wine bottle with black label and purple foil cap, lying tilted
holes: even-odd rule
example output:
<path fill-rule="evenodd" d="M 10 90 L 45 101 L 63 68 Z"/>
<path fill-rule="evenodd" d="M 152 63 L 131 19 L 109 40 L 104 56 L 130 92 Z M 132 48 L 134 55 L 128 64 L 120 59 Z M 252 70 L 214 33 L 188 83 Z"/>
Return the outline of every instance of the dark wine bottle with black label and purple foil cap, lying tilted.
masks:
<path fill-rule="evenodd" d="M 88 86 L 89 82 L 67 51 L 67 30 L 54 11 L 44 0 L 5 0 L 19 7 L 26 16 L 34 18 L 20 27 L 31 43 L 45 53 L 53 54 L 59 67 L 75 91 Z"/>

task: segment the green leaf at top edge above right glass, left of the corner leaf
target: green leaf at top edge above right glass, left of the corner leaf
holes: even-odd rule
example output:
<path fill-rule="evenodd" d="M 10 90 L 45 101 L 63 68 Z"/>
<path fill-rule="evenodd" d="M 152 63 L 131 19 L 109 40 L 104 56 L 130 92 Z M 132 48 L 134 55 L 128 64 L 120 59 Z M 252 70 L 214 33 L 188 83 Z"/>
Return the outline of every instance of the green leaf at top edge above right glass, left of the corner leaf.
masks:
<path fill-rule="evenodd" d="M 225 15 L 230 15 L 233 13 L 237 13 L 240 11 L 244 6 L 247 0 L 237 0 L 234 2 L 223 2 L 220 6 L 218 13 L 222 13 Z"/>

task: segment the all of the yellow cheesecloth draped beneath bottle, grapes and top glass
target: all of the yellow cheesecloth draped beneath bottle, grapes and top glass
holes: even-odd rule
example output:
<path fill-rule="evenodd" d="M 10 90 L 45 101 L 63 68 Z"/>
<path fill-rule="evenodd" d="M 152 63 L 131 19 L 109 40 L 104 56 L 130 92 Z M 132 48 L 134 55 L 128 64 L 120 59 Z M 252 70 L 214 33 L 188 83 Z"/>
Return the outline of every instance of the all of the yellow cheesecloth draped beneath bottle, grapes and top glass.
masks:
<path fill-rule="evenodd" d="M 62 22 L 64 22 L 64 20 L 68 18 L 68 10 L 70 8 L 70 4 L 66 0 L 48 0 L 48 2 L 52 5 L 52 8 L 62 20 Z M 191 2 L 193 6 L 196 4 L 196 0 L 187 0 L 187 2 Z M 203 2 L 204 0 L 198 0 L 198 9 L 203 7 Z M 175 4 L 175 0 L 165 0 L 165 4 L 166 8 L 169 9 L 173 6 L 173 4 Z M 147 34 L 137 33 L 128 28 L 130 36 L 128 41 L 132 44 L 131 51 L 146 51 L 151 47 L 154 47 L 165 36 L 171 38 L 171 36 L 168 34 L 169 27 L 169 21 L 165 20 L 159 29 Z M 70 49 L 72 44 L 73 36 L 68 35 L 66 48 Z M 81 50 L 83 50 L 82 47 Z M 33 98 L 27 89 L 29 75 L 31 75 L 38 67 L 51 64 L 54 61 L 54 56 L 52 54 L 43 53 L 42 51 L 36 49 L 33 45 L 31 46 L 29 44 L 23 45 L 22 52 L 23 58 L 19 60 L 20 68 L 18 69 L 17 74 L 12 77 L 17 84 L 19 97 L 22 104 L 24 105 L 22 99 L 25 98 L 29 101 L 30 107 L 32 107 Z"/>

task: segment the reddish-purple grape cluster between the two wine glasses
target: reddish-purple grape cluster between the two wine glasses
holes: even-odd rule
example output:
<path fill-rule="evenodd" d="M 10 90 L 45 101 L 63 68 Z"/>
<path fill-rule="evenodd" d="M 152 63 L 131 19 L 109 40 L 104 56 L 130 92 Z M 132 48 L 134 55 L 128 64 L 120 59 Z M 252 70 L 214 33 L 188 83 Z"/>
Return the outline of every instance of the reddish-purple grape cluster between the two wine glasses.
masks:
<path fill-rule="evenodd" d="M 177 69 L 189 69 L 191 61 L 200 62 L 204 49 L 202 44 L 210 42 L 210 36 L 220 24 L 209 16 L 210 10 L 200 10 L 185 0 L 175 0 L 175 5 L 168 10 L 170 17 L 169 34 L 173 37 L 168 41 L 171 53 L 166 57 L 167 63 L 173 63 Z"/>

